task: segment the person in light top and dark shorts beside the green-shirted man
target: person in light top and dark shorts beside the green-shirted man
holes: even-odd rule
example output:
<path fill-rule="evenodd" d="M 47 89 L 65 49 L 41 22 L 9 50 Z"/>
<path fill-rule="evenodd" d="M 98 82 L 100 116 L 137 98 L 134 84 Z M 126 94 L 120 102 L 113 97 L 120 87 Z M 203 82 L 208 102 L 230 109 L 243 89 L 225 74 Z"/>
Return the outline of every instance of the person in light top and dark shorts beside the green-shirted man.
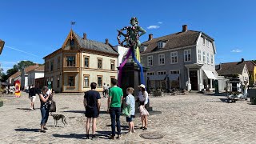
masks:
<path fill-rule="evenodd" d="M 125 105 L 128 106 L 127 108 L 130 109 L 130 114 L 126 115 L 126 122 L 128 122 L 129 125 L 129 131 L 128 134 L 130 133 L 135 133 L 134 130 L 134 122 L 133 122 L 133 118 L 135 117 L 135 99 L 134 99 L 134 88 L 132 87 L 128 87 L 126 89 L 126 94 L 128 94 L 126 96 L 126 101 L 125 101 Z"/>

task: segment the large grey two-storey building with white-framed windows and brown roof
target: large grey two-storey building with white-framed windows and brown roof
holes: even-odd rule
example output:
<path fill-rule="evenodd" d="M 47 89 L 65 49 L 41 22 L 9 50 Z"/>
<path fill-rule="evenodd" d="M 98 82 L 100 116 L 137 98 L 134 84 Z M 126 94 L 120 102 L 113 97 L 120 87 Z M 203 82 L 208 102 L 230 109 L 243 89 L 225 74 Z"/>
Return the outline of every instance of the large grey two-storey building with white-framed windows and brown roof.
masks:
<path fill-rule="evenodd" d="M 215 71 L 214 38 L 201 31 L 187 30 L 160 38 L 149 39 L 142 43 L 142 64 L 149 68 L 147 77 L 151 77 L 150 87 L 162 85 L 163 75 L 169 75 L 173 88 L 203 90 L 214 89 L 213 81 L 218 74 Z M 178 75 L 178 77 L 177 77 Z M 157 80 L 157 81 L 155 81 Z"/>

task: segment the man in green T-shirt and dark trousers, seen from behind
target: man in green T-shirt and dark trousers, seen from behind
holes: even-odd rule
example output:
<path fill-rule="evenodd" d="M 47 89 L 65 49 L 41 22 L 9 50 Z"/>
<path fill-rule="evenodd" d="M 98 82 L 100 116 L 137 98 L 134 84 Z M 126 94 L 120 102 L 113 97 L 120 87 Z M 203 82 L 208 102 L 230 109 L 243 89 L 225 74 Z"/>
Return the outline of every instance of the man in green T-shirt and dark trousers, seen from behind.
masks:
<path fill-rule="evenodd" d="M 117 86 L 118 80 L 115 78 L 111 79 L 111 84 L 113 85 L 110 88 L 109 98 L 107 102 L 107 112 L 110 113 L 111 118 L 111 130 L 112 134 L 110 139 L 114 139 L 115 136 L 115 122 L 117 122 L 118 137 L 121 137 L 121 125 L 120 125 L 120 115 L 121 115 L 121 104 L 123 92 L 120 87 Z"/>

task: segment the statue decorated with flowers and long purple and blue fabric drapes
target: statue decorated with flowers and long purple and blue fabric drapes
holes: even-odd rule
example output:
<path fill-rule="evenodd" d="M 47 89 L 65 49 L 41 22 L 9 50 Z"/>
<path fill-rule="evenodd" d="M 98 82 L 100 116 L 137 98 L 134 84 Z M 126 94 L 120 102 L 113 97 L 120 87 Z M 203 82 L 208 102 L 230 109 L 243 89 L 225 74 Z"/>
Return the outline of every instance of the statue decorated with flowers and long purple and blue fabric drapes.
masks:
<path fill-rule="evenodd" d="M 125 66 L 127 60 L 130 57 L 130 54 L 132 54 L 132 58 L 134 59 L 134 62 L 136 62 L 140 68 L 140 80 L 141 83 L 145 84 L 144 74 L 143 74 L 143 67 L 140 63 L 140 54 L 139 54 L 139 46 L 141 46 L 141 43 L 139 42 L 139 37 L 143 34 L 146 34 L 146 30 L 143 30 L 141 26 L 138 26 L 138 19 L 137 18 L 131 18 L 130 19 L 131 26 L 126 26 L 122 28 L 121 30 L 118 30 L 118 44 L 123 47 L 129 48 L 125 60 L 121 63 L 119 66 L 119 72 L 118 72 L 118 86 L 121 86 L 122 82 L 122 68 Z M 126 30 L 126 34 L 123 33 L 123 30 Z M 124 36 L 124 40 L 121 42 L 121 36 Z"/>

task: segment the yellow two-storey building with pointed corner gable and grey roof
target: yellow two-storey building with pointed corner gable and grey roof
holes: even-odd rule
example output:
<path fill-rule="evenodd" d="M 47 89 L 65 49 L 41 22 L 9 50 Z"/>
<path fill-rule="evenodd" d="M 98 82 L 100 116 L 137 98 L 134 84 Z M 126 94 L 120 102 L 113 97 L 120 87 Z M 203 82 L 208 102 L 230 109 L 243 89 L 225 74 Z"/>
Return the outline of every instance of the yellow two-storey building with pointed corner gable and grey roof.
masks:
<path fill-rule="evenodd" d="M 62 47 L 45 58 L 45 84 L 51 82 L 56 92 L 84 92 L 90 90 L 90 83 L 110 84 L 118 77 L 118 53 L 106 42 L 83 38 L 70 30 Z"/>

